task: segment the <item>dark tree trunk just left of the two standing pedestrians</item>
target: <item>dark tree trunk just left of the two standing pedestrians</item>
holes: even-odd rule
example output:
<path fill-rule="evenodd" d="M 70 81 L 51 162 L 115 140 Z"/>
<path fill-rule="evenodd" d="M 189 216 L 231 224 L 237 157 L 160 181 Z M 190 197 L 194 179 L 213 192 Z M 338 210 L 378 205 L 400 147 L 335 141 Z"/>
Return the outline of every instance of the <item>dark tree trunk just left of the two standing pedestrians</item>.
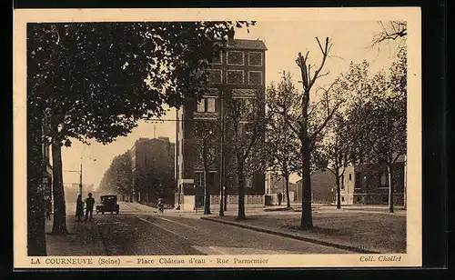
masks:
<path fill-rule="evenodd" d="M 52 233 L 65 235 L 67 234 L 67 229 L 65 190 L 62 175 L 62 145 L 56 140 L 52 143 L 52 165 L 54 195 L 54 225 L 52 226 Z"/>

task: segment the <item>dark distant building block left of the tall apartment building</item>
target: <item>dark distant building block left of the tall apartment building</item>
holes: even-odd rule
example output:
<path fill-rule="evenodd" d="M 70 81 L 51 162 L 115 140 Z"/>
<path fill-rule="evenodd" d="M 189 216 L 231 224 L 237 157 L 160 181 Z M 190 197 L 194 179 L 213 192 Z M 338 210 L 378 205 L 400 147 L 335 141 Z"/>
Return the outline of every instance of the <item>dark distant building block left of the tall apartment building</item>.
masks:
<path fill-rule="evenodd" d="M 174 204 L 175 144 L 167 137 L 153 139 L 140 138 L 131 147 L 134 200 L 146 204 L 156 204 L 164 198 L 167 204 Z"/>

